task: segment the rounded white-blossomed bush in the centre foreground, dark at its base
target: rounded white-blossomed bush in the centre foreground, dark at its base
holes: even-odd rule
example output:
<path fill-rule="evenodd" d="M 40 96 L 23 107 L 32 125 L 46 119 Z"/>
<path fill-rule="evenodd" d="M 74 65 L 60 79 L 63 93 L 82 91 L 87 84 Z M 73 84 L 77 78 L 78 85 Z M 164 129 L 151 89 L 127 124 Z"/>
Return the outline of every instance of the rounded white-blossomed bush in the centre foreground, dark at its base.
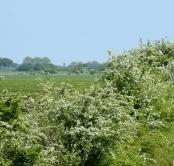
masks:
<path fill-rule="evenodd" d="M 131 106 L 125 100 L 127 107 L 123 107 L 122 102 L 112 89 L 91 89 L 85 95 L 68 95 L 49 113 L 53 125 L 63 128 L 64 148 L 77 153 L 80 165 L 99 160 L 113 143 L 128 139 L 134 131 L 134 122 L 126 114 Z"/>

